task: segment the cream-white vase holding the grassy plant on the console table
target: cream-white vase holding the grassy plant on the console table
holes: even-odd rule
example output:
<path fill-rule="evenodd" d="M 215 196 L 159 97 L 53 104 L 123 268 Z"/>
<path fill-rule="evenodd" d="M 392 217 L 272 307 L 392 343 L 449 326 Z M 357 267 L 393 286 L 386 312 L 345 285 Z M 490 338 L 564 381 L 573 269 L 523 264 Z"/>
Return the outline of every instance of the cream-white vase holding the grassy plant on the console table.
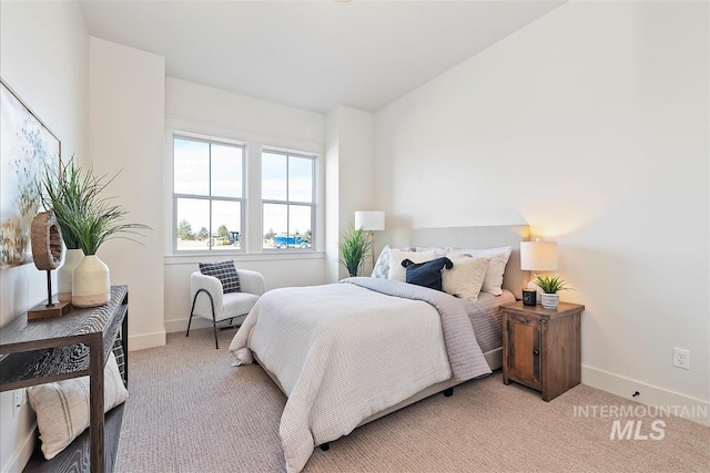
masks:
<path fill-rule="evenodd" d="M 87 255 L 74 268 L 71 305 L 74 307 L 103 306 L 111 298 L 109 267 L 97 255 Z"/>

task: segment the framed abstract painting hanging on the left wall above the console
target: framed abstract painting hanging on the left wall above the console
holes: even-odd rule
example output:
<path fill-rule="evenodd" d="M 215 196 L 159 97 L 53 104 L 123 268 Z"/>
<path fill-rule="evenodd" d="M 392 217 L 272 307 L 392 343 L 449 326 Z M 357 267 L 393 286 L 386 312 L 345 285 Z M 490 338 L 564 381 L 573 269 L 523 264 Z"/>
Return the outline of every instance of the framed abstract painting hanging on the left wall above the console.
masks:
<path fill-rule="evenodd" d="M 61 143 L 0 79 L 0 266 L 32 263 L 30 229 L 42 208 L 44 166 L 60 167 Z"/>

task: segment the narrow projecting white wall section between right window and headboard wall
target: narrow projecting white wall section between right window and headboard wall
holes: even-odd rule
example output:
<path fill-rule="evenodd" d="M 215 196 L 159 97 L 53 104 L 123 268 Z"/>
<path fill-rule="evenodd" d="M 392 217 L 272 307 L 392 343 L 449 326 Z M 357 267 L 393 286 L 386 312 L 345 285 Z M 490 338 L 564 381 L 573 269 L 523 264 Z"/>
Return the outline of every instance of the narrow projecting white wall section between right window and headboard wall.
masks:
<path fill-rule="evenodd" d="M 326 255 L 327 280 L 347 277 L 338 263 L 343 232 L 355 224 L 356 210 L 375 210 L 374 115 L 338 105 L 326 115 Z M 372 264 L 364 271 L 372 270 Z M 364 273 L 365 274 L 365 273 Z"/>

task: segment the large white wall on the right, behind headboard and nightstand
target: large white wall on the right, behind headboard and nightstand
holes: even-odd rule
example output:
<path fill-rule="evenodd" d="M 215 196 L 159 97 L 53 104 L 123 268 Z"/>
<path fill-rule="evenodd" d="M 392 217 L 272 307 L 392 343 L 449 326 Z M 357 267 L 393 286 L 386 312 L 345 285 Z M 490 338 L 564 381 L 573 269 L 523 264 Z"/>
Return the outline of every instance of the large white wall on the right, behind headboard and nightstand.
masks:
<path fill-rule="evenodd" d="M 708 65 L 707 2 L 567 3 L 376 113 L 377 202 L 529 223 L 586 306 L 582 381 L 707 407 Z"/>

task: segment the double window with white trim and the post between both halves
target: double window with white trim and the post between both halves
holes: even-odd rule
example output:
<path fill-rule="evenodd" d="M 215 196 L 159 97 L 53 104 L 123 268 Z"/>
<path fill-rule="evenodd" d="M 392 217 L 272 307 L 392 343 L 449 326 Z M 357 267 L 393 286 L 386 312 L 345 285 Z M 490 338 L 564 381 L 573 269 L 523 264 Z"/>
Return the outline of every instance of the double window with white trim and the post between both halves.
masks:
<path fill-rule="evenodd" d="M 320 257 L 322 150 L 286 151 L 291 143 L 276 138 L 266 144 L 239 133 L 213 137 L 220 131 L 196 134 L 190 123 L 179 125 L 166 131 L 173 179 L 166 196 L 172 214 L 168 251 L 185 257 L 241 253 L 247 259 L 253 258 L 246 254 L 266 254 L 271 259 L 291 250 L 287 258 Z"/>

